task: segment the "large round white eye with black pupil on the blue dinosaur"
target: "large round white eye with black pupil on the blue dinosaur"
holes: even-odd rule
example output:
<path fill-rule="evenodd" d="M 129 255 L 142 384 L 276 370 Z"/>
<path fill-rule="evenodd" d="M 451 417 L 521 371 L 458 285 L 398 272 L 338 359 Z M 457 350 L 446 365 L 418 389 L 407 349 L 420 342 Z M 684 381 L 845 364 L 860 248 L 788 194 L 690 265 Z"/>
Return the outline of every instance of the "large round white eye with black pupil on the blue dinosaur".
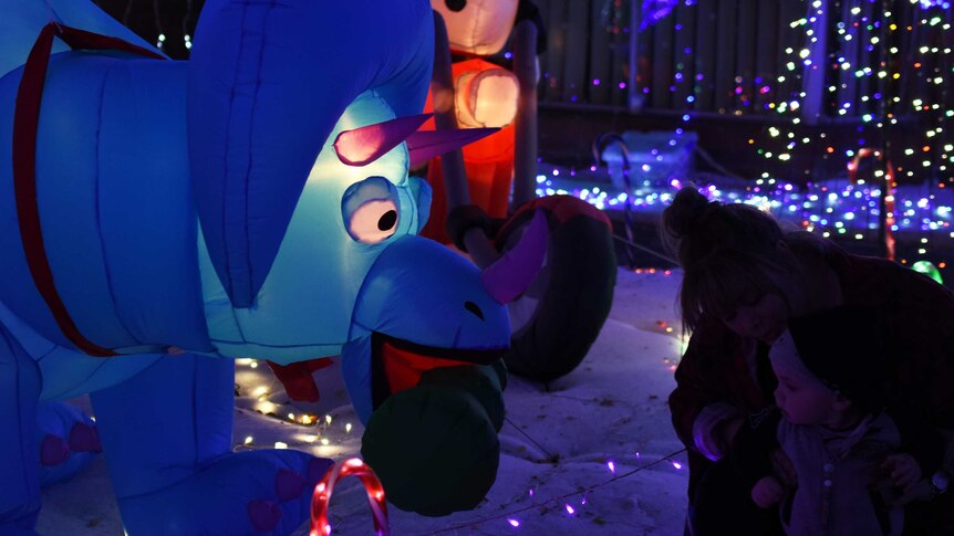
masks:
<path fill-rule="evenodd" d="M 397 191 L 384 177 L 370 177 L 352 185 L 341 200 L 341 216 L 352 239 L 376 244 L 397 231 Z"/>

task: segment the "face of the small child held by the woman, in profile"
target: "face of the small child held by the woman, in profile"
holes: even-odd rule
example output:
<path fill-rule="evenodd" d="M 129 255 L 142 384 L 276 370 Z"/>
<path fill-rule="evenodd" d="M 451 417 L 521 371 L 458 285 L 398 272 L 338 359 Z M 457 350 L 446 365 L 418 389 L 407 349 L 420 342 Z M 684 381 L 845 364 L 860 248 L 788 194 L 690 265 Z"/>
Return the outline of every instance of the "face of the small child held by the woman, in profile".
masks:
<path fill-rule="evenodd" d="M 838 395 L 805 367 L 787 330 L 772 345 L 769 357 L 778 378 L 775 401 L 785 418 L 795 424 L 829 422 Z"/>

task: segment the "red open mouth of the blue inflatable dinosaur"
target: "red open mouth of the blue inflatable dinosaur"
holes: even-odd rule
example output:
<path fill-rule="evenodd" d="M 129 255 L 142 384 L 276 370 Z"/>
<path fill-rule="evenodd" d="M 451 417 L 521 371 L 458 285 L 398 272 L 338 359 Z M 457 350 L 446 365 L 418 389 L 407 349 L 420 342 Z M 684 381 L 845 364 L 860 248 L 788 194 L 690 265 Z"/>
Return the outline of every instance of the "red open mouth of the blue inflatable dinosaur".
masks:
<path fill-rule="evenodd" d="M 490 365 L 507 351 L 507 348 L 438 348 L 377 332 L 371 336 L 371 348 L 374 408 L 391 395 L 417 386 L 421 375 L 427 370 L 463 365 Z"/>

